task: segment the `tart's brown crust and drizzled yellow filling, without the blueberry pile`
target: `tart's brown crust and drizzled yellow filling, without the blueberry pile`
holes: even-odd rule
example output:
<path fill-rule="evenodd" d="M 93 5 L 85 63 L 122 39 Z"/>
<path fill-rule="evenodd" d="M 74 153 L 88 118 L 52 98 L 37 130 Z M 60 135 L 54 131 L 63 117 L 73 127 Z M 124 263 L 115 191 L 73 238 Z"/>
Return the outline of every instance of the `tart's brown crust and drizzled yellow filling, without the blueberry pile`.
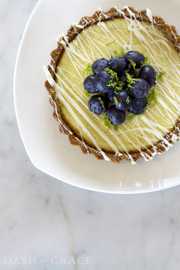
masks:
<path fill-rule="evenodd" d="M 49 92 L 53 116 L 59 131 L 68 135 L 73 145 L 99 160 L 132 164 L 138 158 L 145 161 L 156 153 L 167 151 L 180 136 L 180 37 L 174 26 L 165 24 L 150 10 L 137 11 L 132 7 L 117 7 L 72 23 L 67 34 L 57 37 L 58 47 L 51 52 L 51 62 L 44 66 L 47 75 L 45 88 Z M 149 106 L 132 121 L 118 125 L 118 130 L 104 125 L 105 115 L 88 110 L 87 93 L 83 82 L 89 75 L 86 67 L 97 59 L 122 56 L 128 51 L 148 56 L 157 75 L 156 104 Z M 146 58 L 147 59 L 147 58 Z M 126 120 L 128 112 L 126 112 Z"/>

